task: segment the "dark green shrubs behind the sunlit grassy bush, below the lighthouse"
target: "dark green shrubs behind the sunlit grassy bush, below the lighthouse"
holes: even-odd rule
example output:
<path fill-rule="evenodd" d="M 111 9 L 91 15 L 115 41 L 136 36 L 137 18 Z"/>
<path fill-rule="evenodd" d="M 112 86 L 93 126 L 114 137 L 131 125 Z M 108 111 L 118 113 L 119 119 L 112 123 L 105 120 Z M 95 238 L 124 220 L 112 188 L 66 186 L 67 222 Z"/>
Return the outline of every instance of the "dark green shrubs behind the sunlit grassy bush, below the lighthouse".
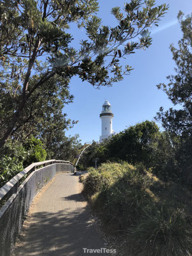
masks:
<path fill-rule="evenodd" d="M 168 132 L 160 132 L 155 122 L 145 121 L 130 126 L 110 140 L 93 143 L 79 161 L 81 169 L 107 161 L 143 163 L 147 169 L 163 180 L 180 179 L 180 170 L 175 161 L 175 148 L 179 138 L 172 138 Z M 170 172 L 171 169 L 171 172 Z"/>

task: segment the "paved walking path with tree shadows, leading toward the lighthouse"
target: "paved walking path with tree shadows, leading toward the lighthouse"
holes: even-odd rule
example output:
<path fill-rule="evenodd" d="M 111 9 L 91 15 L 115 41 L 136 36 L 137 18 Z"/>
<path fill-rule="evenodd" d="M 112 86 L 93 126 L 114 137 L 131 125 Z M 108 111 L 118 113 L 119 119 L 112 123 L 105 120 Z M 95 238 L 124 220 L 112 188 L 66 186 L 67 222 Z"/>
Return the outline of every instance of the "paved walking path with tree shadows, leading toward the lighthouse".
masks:
<path fill-rule="evenodd" d="M 83 248 L 106 248 L 89 220 L 79 193 L 79 177 L 59 173 L 35 199 L 15 248 L 17 256 L 86 256 Z"/>

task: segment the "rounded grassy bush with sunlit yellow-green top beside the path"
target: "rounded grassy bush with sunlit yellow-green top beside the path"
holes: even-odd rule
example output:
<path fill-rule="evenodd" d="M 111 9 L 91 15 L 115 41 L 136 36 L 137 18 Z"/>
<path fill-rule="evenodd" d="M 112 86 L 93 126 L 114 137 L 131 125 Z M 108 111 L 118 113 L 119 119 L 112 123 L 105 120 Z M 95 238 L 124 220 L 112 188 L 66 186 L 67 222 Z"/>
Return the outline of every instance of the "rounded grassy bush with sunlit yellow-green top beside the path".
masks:
<path fill-rule="evenodd" d="M 84 193 L 93 197 L 92 205 L 109 229 L 119 230 L 138 220 L 143 207 L 155 200 L 145 186 L 154 181 L 142 169 L 126 162 L 104 163 L 98 170 L 89 170 L 84 180 Z M 113 220 L 113 221 L 112 221 Z"/>

